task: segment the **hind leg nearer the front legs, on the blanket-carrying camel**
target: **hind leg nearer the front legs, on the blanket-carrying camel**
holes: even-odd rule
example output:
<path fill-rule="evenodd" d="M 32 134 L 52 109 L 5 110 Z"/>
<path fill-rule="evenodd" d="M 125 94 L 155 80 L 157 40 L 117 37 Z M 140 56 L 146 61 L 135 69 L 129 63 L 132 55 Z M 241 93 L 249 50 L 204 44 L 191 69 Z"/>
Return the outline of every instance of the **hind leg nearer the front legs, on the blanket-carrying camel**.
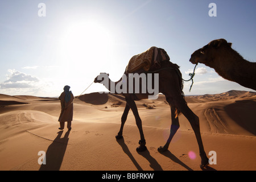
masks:
<path fill-rule="evenodd" d="M 167 100 L 168 102 L 168 100 Z M 174 106 L 171 106 L 171 118 L 172 118 L 172 125 L 171 125 L 171 129 L 170 129 L 170 136 L 169 138 L 167 139 L 167 142 L 164 146 L 160 146 L 158 148 L 158 151 L 159 152 L 164 152 L 164 151 L 167 151 L 168 150 L 168 147 L 170 145 L 170 142 L 172 140 L 172 138 L 174 137 L 176 131 L 179 129 L 180 127 L 180 124 L 179 124 L 179 118 L 175 118 L 175 107 Z"/>

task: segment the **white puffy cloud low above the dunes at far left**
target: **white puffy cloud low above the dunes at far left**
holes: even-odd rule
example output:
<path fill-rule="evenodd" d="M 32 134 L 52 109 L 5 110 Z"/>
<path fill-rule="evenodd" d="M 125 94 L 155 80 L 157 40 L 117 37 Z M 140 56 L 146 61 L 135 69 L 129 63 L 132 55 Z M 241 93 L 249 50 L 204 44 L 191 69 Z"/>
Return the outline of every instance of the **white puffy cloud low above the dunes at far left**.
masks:
<path fill-rule="evenodd" d="M 1 89 L 5 88 L 34 88 L 39 79 L 35 76 L 27 75 L 16 71 L 15 69 L 8 70 L 9 75 L 7 80 L 0 84 Z"/>

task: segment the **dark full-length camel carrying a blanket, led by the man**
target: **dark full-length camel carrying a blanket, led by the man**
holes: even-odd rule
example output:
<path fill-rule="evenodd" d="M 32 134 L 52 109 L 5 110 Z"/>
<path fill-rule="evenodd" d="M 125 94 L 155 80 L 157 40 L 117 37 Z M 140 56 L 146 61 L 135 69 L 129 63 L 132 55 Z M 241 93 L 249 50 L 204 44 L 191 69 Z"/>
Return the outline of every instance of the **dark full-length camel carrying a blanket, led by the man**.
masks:
<path fill-rule="evenodd" d="M 160 62 L 160 68 L 150 68 L 148 72 L 145 71 L 137 71 L 136 73 L 141 74 L 141 73 L 158 73 L 159 75 L 159 93 L 163 93 L 166 96 L 166 101 L 171 107 L 171 129 L 170 129 L 170 136 L 167 139 L 166 144 L 164 146 L 160 146 L 158 148 L 159 152 L 164 152 L 168 150 L 168 147 L 170 145 L 170 142 L 172 138 L 174 137 L 176 131 L 179 129 L 179 114 L 184 114 L 185 117 L 188 119 L 189 123 L 192 126 L 193 131 L 195 132 L 197 143 L 199 145 L 199 152 L 200 152 L 200 157 L 201 157 L 201 164 L 200 167 L 204 168 L 206 167 L 209 163 L 209 159 L 207 158 L 207 155 L 205 154 L 204 151 L 204 146 L 203 146 L 203 141 L 201 139 L 201 134 L 200 134 L 200 126 L 199 126 L 199 117 L 191 109 L 189 109 L 187 102 L 184 100 L 184 93 L 182 91 L 183 89 L 183 80 L 181 77 L 181 73 L 179 71 L 179 66 L 176 64 L 171 63 L 171 61 L 166 60 L 166 61 L 161 61 Z M 102 77 L 103 75 L 103 77 Z M 124 75 L 128 77 L 127 72 L 125 71 Z M 147 75 L 147 74 L 146 74 Z M 99 77 L 101 76 L 101 77 Z M 113 82 L 109 78 L 109 74 L 107 73 L 101 73 L 99 76 L 97 76 L 94 79 L 94 82 L 96 83 L 101 83 L 104 81 L 104 79 L 108 79 L 109 85 L 104 85 L 108 90 L 110 90 L 111 85 L 117 85 L 120 82 L 123 82 L 122 78 L 119 81 Z M 148 77 L 148 76 L 147 76 Z M 128 80 L 127 80 L 128 82 Z M 140 87 L 143 86 L 142 81 L 139 82 Z M 127 83 L 127 86 L 129 84 Z M 115 94 L 120 94 L 120 93 L 115 93 Z M 125 96 L 126 100 L 126 106 L 125 110 L 123 111 L 122 117 L 121 117 L 121 127 L 118 132 L 118 134 L 115 136 L 115 138 L 122 139 L 123 136 L 123 126 L 125 125 L 125 121 L 127 119 L 127 115 L 129 113 L 129 110 L 131 109 L 133 111 L 135 121 L 137 124 L 137 127 L 139 129 L 139 134 L 141 137 L 141 140 L 139 140 L 139 147 L 137 147 L 137 152 L 142 152 L 147 150 L 146 147 L 146 140 L 144 138 L 143 130 L 142 130 L 142 120 L 139 117 L 137 105 L 135 104 L 135 101 L 142 100 L 142 99 L 147 99 L 148 96 L 150 95 L 148 92 L 147 93 L 121 93 L 123 96 Z"/>

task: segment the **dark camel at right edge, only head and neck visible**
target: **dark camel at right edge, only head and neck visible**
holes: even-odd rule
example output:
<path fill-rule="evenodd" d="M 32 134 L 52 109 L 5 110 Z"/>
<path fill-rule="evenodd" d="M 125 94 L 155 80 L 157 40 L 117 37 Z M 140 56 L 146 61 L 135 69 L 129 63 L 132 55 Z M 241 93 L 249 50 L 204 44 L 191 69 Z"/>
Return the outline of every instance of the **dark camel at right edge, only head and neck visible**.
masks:
<path fill-rule="evenodd" d="M 225 39 L 213 40 L 193 52 L 189 61 L 193 64 L 203 63 L 226 80 L 256 90 L 256 63 L 243 59 L 231 46 L 232 43 Z"/>

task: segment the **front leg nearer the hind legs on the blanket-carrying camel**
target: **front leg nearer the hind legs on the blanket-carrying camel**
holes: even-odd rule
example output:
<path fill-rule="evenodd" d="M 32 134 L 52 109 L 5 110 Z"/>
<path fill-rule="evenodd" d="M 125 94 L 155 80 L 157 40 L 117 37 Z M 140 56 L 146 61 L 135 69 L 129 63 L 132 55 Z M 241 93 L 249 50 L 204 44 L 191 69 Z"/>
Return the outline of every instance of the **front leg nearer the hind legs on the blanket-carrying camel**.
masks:
<path fill-rule="evenodd" d="M 139 147 L 136 148 L 138 152 L 142 152 L 147 150 L 146 147 L 146 140 L 144 138 L 143 130 L 142 130 L 142 121 L 139 117 L 138 109 L 135 104 L 135 101 L 132 98 L 126 98 L 127 104 L 130 106 L 131 110 L 133 111 L 133 115 L 135 117 L 136 125 L 139 129 L 139 134 L 141 135 L 141 140 L 139 140 Z"/>

